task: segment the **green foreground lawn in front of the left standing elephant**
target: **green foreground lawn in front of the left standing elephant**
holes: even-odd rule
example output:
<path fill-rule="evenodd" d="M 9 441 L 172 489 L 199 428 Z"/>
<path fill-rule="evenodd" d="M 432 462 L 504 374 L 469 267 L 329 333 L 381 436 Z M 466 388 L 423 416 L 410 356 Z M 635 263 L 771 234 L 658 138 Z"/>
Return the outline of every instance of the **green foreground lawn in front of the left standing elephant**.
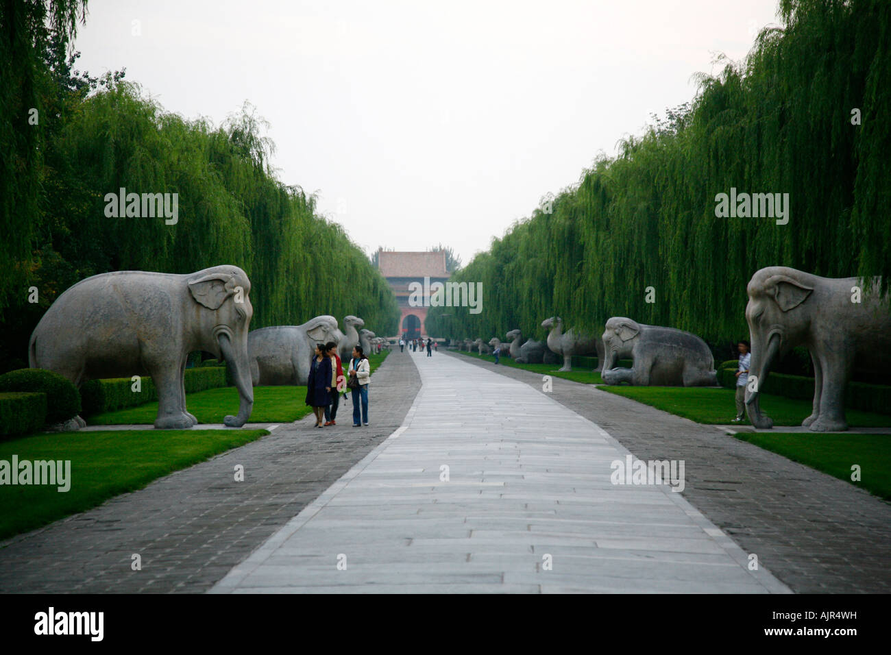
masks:
<path fill-rule="evenodd" d="M 152 480 L 242 446 L 266 430 L 109 430 L 37 434 L 0 442 L 0 460 L 69 460 L 67 492 L 0 485 L 0 539 L 27 532 L 135 491 Z M 220 484 L 235 484 L 233 473 Z"/>

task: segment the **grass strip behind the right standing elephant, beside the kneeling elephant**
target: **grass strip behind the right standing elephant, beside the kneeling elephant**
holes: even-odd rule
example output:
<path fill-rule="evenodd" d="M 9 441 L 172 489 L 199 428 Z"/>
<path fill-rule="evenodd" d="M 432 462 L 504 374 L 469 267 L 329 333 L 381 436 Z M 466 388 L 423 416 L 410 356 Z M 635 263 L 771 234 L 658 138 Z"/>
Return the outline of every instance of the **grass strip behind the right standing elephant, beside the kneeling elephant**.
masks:
<path fill-rule="evenodd" d="M 644 405 L 651 405 L 698 423 L 725 424 L 730 423 L 736 416 L 732 389 L 630 387 L 624 384 L 615 387 L 604 385 L 598 389 L 632 398 Z M 811 415 L 812 405 L 810 400 L 762 394 L 761 409 L 773 419 L 774 425 L 801 425 L 801 422 Z M 891 427 L 891 416 L 849 409 L 847 422 L 852 428 Z M 740 425 L 751 425 L 748 417 L 744 418 Z"/>

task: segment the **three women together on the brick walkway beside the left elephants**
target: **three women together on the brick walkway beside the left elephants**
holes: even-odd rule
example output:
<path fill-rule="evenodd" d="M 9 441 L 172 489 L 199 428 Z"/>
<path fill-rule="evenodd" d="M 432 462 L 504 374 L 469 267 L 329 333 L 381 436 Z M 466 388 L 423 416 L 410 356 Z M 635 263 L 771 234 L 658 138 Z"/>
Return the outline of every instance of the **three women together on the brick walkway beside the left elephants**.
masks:
<path fill-rule="evenodd" d="M 353 427 L 358 428 L 363 423 L 368 425 L 368 378 L 371 367 L 362 346 L 353 348 L 347 375 L 348 378 L 343 374 L 343 364 L 340 362 L 336 343 L 329 341 L 315 344 L 307 382 L 307 405 L 313 408 L 316 428 L 337 425 L 335 418 L 340 394 L 347 390 L 353 397 Z"/>

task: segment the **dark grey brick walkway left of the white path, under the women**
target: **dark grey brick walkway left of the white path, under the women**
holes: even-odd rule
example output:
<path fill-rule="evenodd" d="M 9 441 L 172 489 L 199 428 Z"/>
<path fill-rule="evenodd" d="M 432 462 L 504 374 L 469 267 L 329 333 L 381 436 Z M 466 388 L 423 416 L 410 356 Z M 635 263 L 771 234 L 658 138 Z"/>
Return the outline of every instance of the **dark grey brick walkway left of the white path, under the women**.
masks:
<path fill-rule="evenodd" d="M 203 592 L 403 422 L 420 378 L 391 354 L 372 374 L 368 428 L 312 414 L 132 494 L 0 542 L 0 593 Z M 341 424 L 342 423 L 342 424 Z M 243 482 L 233 469 L 242 464 Z M 142 556 L 141 571 L 130 568 Z"/>

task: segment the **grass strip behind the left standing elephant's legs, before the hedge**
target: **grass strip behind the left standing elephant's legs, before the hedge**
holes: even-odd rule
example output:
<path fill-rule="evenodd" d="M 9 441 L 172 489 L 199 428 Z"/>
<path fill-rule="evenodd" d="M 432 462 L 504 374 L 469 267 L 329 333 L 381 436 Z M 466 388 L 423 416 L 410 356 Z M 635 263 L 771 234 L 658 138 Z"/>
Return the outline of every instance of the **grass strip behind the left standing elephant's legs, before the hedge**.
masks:
<path fill-rule="evenodd" d="M 285 423 L 297 421 L 307 413 L 304 405 L 306 387 L 254 387 L 252 423 Z M 186 394 L 185 406 L 200 423 L 222 423 L 226 414 L 238 413 L 238 389 L 220 387 L 194 394 Z M 90 425 L 132 425 L 153 423 L 158 416 L 158 402 L 119 409 L 116 412 L 95 414 L 86 419 Z"/>

